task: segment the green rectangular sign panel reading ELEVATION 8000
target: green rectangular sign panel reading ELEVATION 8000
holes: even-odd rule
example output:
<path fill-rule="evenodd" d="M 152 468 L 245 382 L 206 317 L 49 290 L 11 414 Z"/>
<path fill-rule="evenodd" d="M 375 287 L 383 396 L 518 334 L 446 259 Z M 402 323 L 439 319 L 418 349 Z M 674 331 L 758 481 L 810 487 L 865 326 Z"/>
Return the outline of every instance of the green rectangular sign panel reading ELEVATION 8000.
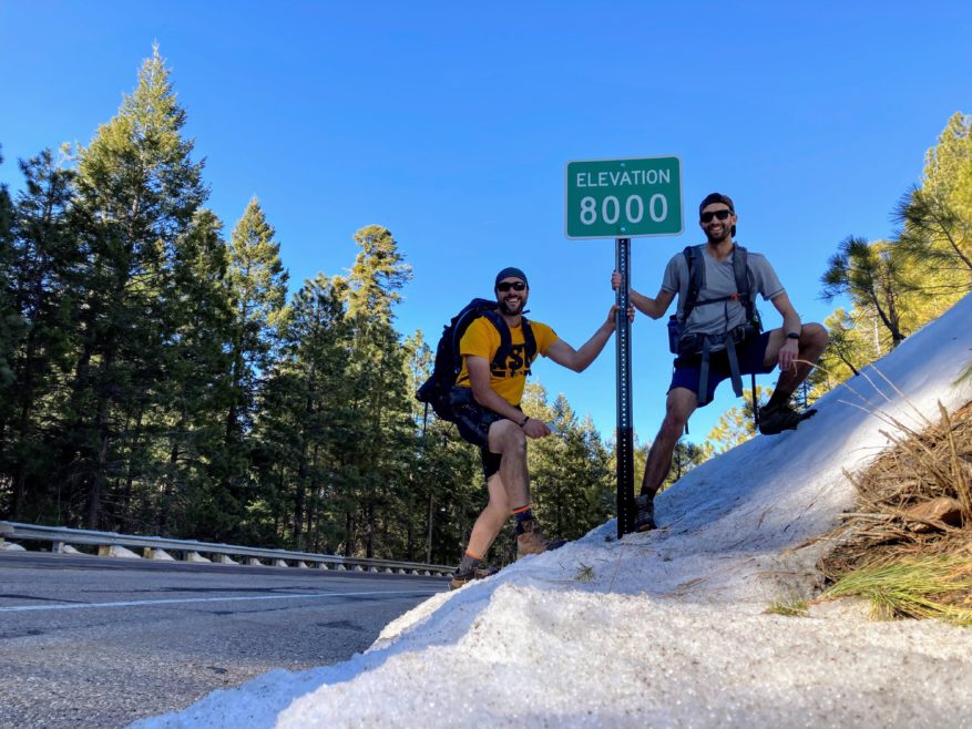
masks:
<path fill-rule="evenodd" d="M 569 162 L 564 189 L 567 238 L 641 238 L 682 233 L 678 157 Z"/>

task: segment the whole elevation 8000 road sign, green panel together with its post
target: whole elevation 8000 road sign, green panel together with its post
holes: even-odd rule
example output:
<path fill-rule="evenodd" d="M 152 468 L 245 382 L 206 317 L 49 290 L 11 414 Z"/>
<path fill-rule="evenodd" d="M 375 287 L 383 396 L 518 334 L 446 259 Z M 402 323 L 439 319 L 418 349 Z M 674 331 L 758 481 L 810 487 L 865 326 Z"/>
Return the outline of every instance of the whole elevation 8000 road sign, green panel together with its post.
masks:
<path fill-rule="evenodd" d="M 631 239 L 682 233 L 678 157 L 593 160 L 566 166 L 564 234 L 614 238 L 617 289 L 617 538 L 634 527 L 634 427 L 631 391 Z"/>

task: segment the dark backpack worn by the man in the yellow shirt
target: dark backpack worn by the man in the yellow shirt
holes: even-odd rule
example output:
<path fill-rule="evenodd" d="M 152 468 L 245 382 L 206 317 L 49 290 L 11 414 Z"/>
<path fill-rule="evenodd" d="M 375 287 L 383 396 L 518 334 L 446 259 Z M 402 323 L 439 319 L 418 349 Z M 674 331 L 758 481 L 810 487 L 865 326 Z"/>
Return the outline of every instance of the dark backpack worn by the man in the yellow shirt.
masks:
<path fill-rule="evenodd" d="M 500 332 L 500 348 L 497 350 L 491 367 L 502 369 L 507 358 L 513 350 L 512 336 L 507 321 L 497 311 L 497 302 L 489 299 L 473 299 L 442 328 L 442 337 L 436 347 L 436 363 L 432 367 L 432 376 L 416 392 L 416 399 L 426 403 L 426 412 L 431 405 L 436 414 L 442 420 L 454 421 L 450 393 L 456 386 L 456 378 L 462 371 L 462 356 L 459 353 L 459 342 L 462 335 L 469 329 L 469 325 L 485 317 Z M 526 317 L 522 317 L 523 340 L 526 346 L 526 366 L 533 361 L 536 355 L 536 339 Z M 526 373 L 530 373 L 528 369 Z"/>

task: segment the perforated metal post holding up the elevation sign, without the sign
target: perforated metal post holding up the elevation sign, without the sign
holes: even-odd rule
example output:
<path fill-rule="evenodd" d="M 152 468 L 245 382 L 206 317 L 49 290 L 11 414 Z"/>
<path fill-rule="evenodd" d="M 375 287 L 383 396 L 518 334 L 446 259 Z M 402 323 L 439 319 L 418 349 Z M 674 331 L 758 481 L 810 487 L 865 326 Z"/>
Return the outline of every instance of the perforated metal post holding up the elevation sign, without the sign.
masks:
<path fill-rule="evenodd" d="M 631 393 L 631 321 L 627 318 L 631 288 L 631 238 L 615 240 L 614 268 L 621 274 L 617 287 L 617 319 L 615 345 L 617 349 L 617 538 L 634 527 L 634 428 L 632 425 Z"/>

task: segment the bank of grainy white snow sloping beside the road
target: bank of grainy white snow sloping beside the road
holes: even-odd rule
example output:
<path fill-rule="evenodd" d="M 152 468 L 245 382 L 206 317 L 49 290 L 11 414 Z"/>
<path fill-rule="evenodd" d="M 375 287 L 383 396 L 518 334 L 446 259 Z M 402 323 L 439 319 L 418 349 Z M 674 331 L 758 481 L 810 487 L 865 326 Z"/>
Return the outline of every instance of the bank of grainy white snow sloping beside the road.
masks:
<path fill-rule="evenodd" d="M 972 629 L 872 623 L 841 603 L 765 613 L 818 586 L 820 537 L 855 501 L 841 470 L 867 466 L 892 419 L 922 430 L 938 401 L 972 399 L 955 384 L 970 322 L 972 296 L 799 431 L 692 471 L 657 499 L 657 531 L 618 542 L 608 522 L 431 597 L 344 664 L 272 671 L 135 726 L 972 726 Z"/>

